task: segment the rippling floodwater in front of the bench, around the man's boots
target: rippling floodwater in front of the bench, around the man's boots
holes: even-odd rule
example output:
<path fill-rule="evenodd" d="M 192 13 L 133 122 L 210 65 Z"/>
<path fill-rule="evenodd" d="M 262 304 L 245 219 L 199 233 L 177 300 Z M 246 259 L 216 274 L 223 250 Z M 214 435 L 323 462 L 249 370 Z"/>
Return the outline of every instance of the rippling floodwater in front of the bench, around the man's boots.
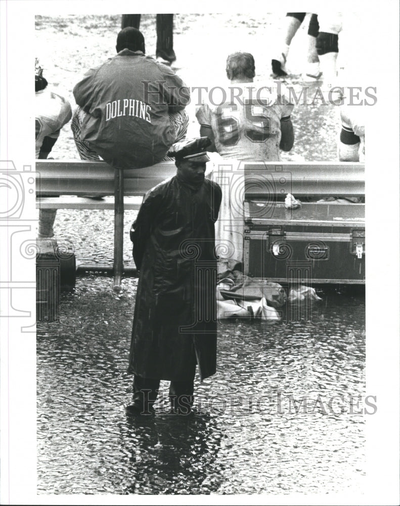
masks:
<path fill-rule="evenodd" d="M 137 281 L 80 278 L 37 333 L 38 493 L 361 493 L 364 297 L 319 291 L 312 320 L 219 324 L 194 419 L 129 419 Z M 339 396 L 339 397 L 337 397 Z M 340 397 L 342 396 L 342 397 Z"/>

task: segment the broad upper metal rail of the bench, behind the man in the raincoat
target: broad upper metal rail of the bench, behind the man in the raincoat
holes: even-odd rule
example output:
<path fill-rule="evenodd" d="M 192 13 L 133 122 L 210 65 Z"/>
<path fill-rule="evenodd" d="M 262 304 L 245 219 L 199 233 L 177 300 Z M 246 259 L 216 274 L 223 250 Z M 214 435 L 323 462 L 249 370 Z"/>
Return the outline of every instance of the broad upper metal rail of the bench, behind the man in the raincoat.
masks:
<path fill-rule="evenodd" d="M 246 197 L 271 192 L 271 185 L 254 188 L 254 181 L 274 182 L 278 193 L 281 187 L 290 188 L 301 199 L 308 195 L 363 196 L 364 164 L 362 163 L 294 163 L 242 162 L 246 176 Z M 229 164 L 224 161 L 224 165 Z M 143 196 L 150 188 L 173 176 L 173 161 L 164 161 L 138 169 L 123 171 L 124 195 Z M 40 195 L 114 195 L 115 171 L 101 161 L 37 160 L 36 192 Z M 282 175 L 285 184 L 280 184 Z M 289 180 L 288 180 L 289 178 Z"/>

